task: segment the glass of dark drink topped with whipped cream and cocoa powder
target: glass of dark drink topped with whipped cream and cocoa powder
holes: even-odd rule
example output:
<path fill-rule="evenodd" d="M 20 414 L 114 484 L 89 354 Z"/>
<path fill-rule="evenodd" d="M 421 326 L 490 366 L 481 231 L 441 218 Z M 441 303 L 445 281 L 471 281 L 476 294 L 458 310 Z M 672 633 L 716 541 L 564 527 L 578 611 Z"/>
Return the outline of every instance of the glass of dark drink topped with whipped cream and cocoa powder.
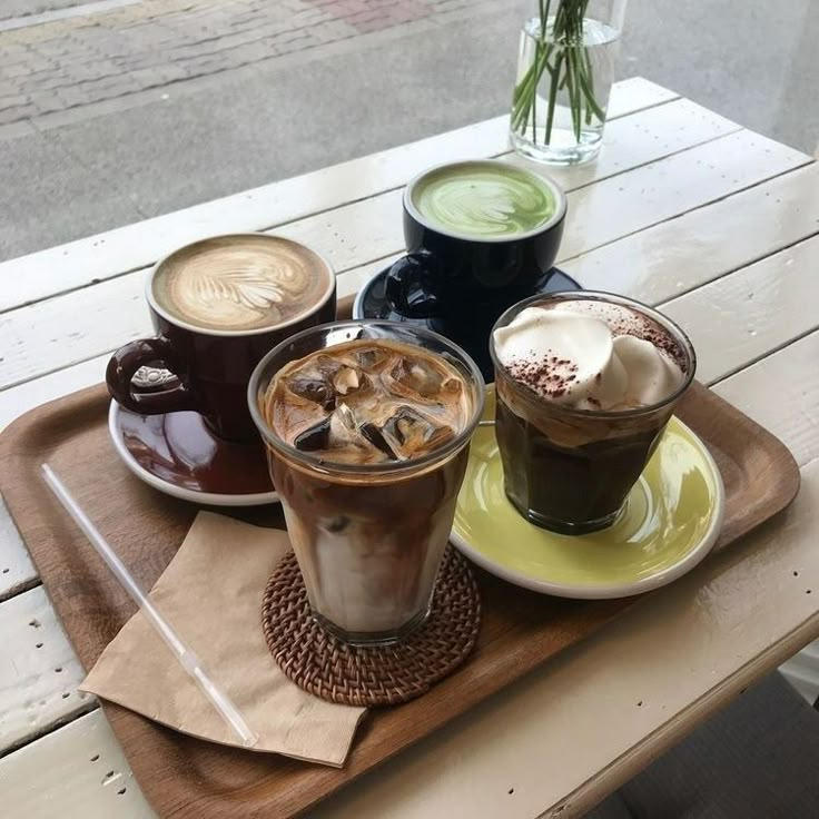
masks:
<path fill-rule="evenodd" d="M 525 299 L 492 330 L 506 496 L 563 534 L 618 517 L 697 366 L 688 336 L 608 293 Z"/>

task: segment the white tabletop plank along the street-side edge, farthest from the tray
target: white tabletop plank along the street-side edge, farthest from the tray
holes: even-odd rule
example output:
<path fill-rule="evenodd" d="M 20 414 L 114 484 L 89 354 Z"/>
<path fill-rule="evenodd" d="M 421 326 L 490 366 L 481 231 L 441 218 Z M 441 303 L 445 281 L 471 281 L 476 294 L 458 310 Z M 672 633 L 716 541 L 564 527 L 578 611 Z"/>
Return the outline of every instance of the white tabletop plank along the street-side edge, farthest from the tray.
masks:
<path fill-rule="evenodd" d="M 611 118 L 677 98 L 640 78 L 612 88 Z M 404 185 L 424 168 L 509 150 L 507 117 L 458 128 L 379 154 L 146 219 L 0 264 L 0 310 L 154 264 L 172 249 L 215 234 L 272 227 Z"/>

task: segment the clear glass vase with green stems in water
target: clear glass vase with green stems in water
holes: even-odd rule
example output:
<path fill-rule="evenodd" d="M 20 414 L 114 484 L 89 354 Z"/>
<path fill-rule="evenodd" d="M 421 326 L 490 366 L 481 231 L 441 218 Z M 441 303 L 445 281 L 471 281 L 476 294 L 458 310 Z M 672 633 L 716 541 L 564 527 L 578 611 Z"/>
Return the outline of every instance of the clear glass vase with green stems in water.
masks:
<path fill-rule="evenodd" d="M 628 0 L 539 0 L 521 32 L 510 137 L 552 165 L 600 151 Z"/>

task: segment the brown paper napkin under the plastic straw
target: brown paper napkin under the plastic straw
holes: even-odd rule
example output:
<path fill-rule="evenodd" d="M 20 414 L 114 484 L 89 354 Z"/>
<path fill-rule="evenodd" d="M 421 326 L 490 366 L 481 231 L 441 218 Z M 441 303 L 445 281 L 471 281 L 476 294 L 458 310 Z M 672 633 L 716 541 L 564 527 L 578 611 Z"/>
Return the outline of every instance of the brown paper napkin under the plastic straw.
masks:
<path fill-rule="evenodd" d="M 254 750 L 341 767 L 365 710 L 290 682 L 262 631 L 262 595 L 289 547 L 285 532 L 200 512 L 150 596 L 258 734 Z M 80 688 L 177 731 L 240 747 L 141 613 Z"/>

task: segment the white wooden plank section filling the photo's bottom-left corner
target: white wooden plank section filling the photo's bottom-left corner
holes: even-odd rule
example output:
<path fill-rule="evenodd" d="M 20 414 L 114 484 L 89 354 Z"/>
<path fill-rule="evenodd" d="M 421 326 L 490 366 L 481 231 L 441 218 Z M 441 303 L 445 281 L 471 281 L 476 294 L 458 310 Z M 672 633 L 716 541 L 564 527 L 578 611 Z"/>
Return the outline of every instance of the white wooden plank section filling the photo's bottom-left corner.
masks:
<path fill-rule="evenodd" d="M 0 759 L 8 817 L 155 819 L 102 712 Z"/>

